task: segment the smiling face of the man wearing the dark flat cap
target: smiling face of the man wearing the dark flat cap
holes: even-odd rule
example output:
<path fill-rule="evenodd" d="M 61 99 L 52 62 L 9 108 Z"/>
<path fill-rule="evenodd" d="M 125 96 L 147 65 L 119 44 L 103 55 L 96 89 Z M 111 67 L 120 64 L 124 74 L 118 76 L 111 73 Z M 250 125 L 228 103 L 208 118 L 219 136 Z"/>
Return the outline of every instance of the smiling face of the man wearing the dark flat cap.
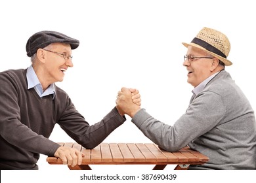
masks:
<path fill-rule="evenodd" d="M 63 54 L 72 54 L 70 44 L 53 43 L 37 50 L 37 62 L 33 64 L 33 68 L 43 89 L 54 82 L 61 82 L 64 79 L 64 72 L 68 67 L 73 67 L 72 59 L 64 59 Z"/>

